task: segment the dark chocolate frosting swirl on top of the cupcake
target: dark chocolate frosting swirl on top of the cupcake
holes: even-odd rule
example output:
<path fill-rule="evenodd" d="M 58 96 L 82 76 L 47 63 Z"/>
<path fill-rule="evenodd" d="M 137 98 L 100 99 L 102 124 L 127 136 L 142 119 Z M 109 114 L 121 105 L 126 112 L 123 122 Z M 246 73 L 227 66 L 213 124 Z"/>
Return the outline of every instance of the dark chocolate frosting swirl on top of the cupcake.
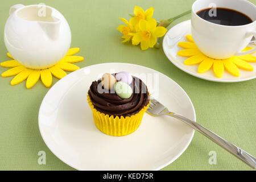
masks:
<path fill-rule="evenodd" d="M 123 99 L 115 94 L 114 90 L 105 90 L 102 88 L 100 79 L 92 82 L 88 95 L 94 108 L 101 113 L 114 115 L 114 117 L 121 115 L 123 117 L 131 116 L 137 114 L 148 104 L 149 94 L 147 86 L 137 77 L 133 76 L 133 82 L 130 86 L 133 89 L 133 94 L 130 98 Z"/>

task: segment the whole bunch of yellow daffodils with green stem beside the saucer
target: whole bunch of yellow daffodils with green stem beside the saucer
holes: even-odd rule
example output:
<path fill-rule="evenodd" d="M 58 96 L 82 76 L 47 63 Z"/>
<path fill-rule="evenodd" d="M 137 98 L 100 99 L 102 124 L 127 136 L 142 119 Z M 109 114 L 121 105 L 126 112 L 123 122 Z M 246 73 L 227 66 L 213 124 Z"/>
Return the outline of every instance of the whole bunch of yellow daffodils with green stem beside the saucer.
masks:
<path fill-rule="evenodd" d="M 154 14 L 154 8 L 150 7 L 144 11 L 141 7 L 134 7 L 134 15 L 129 20 L 129 22 L 124 18 L 119 18 L 125 22 L 126 26 L 120 25 L 117 30 L 123 34 L 122 38 L 125 39 L 122 42 L 129 42 L 134 46 L 141 43 L 141 49 L 146 50 L 148 47 L 159 48 L 159 43 L 157 38 L 160 38 L 166 34 L 168 27 L 175 19 L 180 18 L 191 10 L 186 11 L 183 14 L 177 15 L 174 18 L 162 20 L 156 23 L 156 20 L 152 18 Z"/>

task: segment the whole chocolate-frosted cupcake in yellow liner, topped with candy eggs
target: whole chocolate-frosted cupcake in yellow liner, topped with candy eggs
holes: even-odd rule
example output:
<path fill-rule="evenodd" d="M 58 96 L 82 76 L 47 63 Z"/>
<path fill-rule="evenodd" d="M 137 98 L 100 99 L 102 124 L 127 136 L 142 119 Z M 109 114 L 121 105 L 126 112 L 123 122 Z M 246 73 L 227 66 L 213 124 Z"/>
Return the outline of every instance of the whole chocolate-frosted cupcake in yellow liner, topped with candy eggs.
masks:
<path fill-rule="evenodd" d="M 87 98 L 95 125 L 112 136 L 137 130 L 150 102 L 144 82 L 127 72 L 105 73 L 92 82 Z"/>

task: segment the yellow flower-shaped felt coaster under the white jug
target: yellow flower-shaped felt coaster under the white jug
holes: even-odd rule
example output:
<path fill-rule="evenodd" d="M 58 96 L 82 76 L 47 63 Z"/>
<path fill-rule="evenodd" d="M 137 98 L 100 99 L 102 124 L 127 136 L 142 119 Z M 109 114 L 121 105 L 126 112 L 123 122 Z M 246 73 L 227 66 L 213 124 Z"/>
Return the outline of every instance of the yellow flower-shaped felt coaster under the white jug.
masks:
<path fill-rule="evenodd" d="M 13 80 L 11 80 L 11 85 L 19 84 L 27 79 L 26 86 L 28 89 L 32 88 L 32 86 L 38 82 L 39 78 L 41 78 L 43 84 L 49 88 L 52 85 L 52 75 L 61 79 L 67 75 L 65 71 L 73 72 L 80 69 L 77 65 L 72 64 L 84 60 L 84 57 L 82 56 L 73 56 L 79 51 L 79 48 L 69 49 L 67 55 L 60 60 L 59 63 L 46 69 L 26 68 L 22 64 L 18 63 L 18 61 L 14 60 L 10 53 L 7 53 L 7 56 L 13 60 L 5 61 L 0 64 L 1 67 L 11 68 L 6 72 L 3 72 L 2 77 L 15 76 Z"/>

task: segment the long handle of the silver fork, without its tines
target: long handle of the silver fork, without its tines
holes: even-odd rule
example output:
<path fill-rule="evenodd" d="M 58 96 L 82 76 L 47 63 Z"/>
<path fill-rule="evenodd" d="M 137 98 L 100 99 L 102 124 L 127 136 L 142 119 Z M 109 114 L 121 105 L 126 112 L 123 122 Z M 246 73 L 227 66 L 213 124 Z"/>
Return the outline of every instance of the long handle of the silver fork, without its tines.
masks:
<path fill-rule="evenodd" d="M 193 127 L 193 129 L 199 131 L 200 133 L 204 134 L 209 139 L 213 140 L 213 142 L 217 143 L 222 148 L 225 148 L 227 151 L 229 151 L 231 154 L 236 156 L 238 159 L 241 159 L 243 162 L 248 164 L 250 167 L 255 169 L 255 157 L 248 154 L 246 151 L 243 151 L 241 148 L 235 146 L 234 144 L 228 142 L 224 138 L 221 138 L 217 134 L 213 133 L 212 131 L 206 129 L 204 126 L 199 125 L 199 123 L 192 121 L 183 115 L 180 114 L 168 114 L 172 117 L 175 117 L 177 119 L 180 119 L 181 121 L 187 123 L 189 126 Z"/>

